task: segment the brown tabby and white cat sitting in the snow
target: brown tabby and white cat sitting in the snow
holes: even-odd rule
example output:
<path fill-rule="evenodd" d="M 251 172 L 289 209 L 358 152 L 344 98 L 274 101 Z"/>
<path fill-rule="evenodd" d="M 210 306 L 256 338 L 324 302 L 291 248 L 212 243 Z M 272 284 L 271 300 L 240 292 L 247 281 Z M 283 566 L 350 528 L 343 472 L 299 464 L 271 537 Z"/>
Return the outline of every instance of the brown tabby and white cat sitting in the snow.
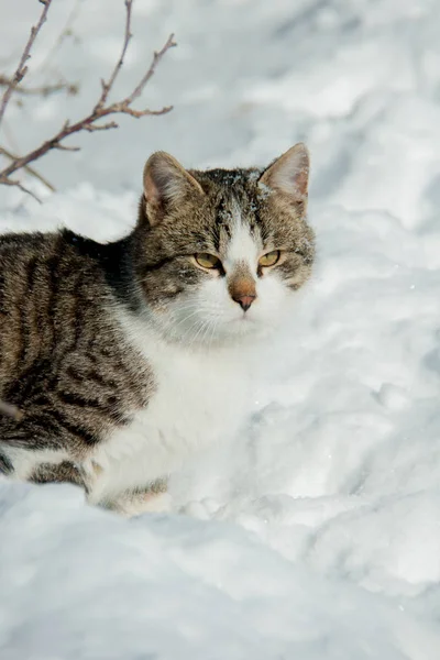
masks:
<path fill-rule="evenodd" d="M 167 477 L 232 438 L 249 410 L 241 359 L 310 277 L 309 155 L 266 169 L 146 162 L 130 235 L 0 238 L 0 473 L 81 486 L 125 515 L 169 507 Z"/>

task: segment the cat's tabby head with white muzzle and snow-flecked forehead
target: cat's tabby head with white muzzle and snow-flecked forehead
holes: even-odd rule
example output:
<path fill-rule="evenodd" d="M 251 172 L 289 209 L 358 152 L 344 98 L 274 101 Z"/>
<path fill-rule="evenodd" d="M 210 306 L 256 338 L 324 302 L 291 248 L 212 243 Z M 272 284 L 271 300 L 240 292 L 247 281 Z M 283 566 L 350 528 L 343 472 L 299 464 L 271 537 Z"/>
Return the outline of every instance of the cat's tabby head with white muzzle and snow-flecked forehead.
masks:
<path fill-rule="evenodd" d="M 227 343 L 277 327 L 309 278 L 309 156 L 297 144 L 264 170 L 186 170 L 153 154 L 135 231 L 135 270 L 162 333 Z"/>

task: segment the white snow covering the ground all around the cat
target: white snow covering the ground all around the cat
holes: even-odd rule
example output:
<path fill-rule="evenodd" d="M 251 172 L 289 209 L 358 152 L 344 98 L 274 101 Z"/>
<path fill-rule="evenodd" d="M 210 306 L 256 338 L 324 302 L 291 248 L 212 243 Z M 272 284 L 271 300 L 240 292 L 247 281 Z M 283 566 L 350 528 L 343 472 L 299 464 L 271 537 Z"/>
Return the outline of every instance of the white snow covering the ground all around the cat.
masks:
<path fill-rule="evenodd" d="M 81 41 L 51 66 L 81 94 L 11 105 L 11 148 L 90 106 L 122 4 L 79 2 Z M 3 3 L 4 66 L 38 7 Z M 54 3 L 33 66 L 73 7 Z M 128 521 L 73 487 L 0 483 L 0 657 L 438 660 L 440 1 L 139 0 L 134 19 L 121 85 L 175 31 L 145 100 L 176 109 L 53 153 L 43 207 L 0 187 L 1 228 L 111 239 L 155 148 L 233 166 L 305 140 L 319 263 L 255 365 L 246 432 L 173 481 L 188 515 Z"/>

